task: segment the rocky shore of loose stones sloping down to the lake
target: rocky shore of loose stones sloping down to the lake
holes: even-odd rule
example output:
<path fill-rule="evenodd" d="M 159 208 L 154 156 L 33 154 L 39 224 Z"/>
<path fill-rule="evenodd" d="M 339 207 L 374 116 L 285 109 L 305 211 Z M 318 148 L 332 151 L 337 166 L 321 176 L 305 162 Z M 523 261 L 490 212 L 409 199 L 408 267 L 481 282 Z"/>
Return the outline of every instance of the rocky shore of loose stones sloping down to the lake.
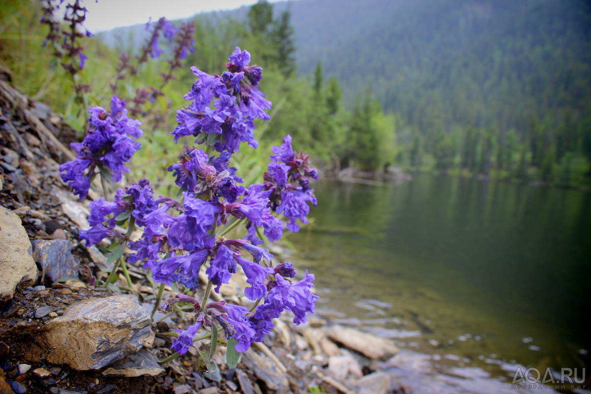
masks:
<path fill-rule="evenodd" d="M 90 200 L 77 201 L 59 174 L 76 132 L 21 95 L 6 70 L 0 110 L 0 393 L 520 392 L 475 372 L 444 375 L 429 356 L 316 316 L 296 326 L 282 315 L 236 368 L 217 347 L 215 370 L 204 371 L 196 354 L 207 340 L 159 364 L 172 353 L 167 334 L 190 314 L 152 316 L 155 290 L 139 266 L 129 267 L 133 288 L 121 274 L 115 286 L 95 286 L 112 269 L 107 245 L 79 241 Z M 245 286 L 235 279 L 212 298 L 241 303 Z"/>

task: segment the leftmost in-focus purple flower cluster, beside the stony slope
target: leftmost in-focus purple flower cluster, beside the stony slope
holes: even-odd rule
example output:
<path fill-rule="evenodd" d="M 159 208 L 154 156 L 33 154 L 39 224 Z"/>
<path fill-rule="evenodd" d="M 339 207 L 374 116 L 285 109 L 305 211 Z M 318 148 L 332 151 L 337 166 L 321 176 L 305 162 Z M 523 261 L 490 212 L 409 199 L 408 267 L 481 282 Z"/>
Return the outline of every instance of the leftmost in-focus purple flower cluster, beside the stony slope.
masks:
<path fill-rule="evenodd" d="M 134 138 L 144 135 L 138 128 L 141 122 L 127 117 L 125 102 L 117 96 L 111 99 L 110 112 L 99 106 L 89 108 L 88 112 L 86 137 L 80 143 L 70 144 L 77 153 L 76 159 L 60 165 L 60 172 L 65 171 L 61 179 L 81 200 L 88 194 L 96 167 L 109 168 L 113 180 L 121 181 L 122 173 L 129 172 L 125 162 L 141 148 Z"/>

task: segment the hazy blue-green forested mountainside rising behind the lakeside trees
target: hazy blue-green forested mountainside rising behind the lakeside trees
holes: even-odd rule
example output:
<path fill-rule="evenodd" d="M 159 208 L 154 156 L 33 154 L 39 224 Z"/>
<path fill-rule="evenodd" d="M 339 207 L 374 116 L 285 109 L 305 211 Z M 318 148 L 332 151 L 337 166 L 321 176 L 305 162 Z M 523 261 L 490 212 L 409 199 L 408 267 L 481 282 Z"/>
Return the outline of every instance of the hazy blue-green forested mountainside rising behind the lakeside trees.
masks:
<path fill-rule="evenodd" d="M 576 123 L 591 109 L 591 7 L 583 0 L 296 0 L 298 73 L 322 62 L 346 107 L 367 86 L 384 110 L 429 134 L 525 131 Z M 248 7 L 197 18 L 247 18 Z M 143 26 L 102 32 L 141 42 Z M 120 40 L 121 41 L 121 40 Z M 137 44 L 134 44 L 137 45 Z"/>

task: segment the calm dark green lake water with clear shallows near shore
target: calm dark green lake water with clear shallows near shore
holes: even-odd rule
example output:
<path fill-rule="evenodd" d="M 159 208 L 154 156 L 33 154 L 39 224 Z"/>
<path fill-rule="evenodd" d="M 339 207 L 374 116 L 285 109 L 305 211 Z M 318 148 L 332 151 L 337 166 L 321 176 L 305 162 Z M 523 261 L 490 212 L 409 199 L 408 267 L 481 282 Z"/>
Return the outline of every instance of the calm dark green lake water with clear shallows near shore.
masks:
<path fill-rule="evenodd" d="M 495 360 L 589 364 L 591 193 L 431 175 L 314 188 L 288 239 L 317 314 L 501 376 Z"/>

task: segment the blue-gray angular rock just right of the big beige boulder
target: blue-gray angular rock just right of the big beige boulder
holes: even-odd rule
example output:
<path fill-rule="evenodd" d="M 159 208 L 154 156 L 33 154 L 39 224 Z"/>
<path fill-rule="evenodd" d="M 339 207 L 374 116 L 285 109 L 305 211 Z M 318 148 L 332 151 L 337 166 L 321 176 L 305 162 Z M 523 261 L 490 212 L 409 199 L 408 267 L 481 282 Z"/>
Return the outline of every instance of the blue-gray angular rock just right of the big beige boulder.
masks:
<path fill-rule="evenodd" d="M 77 278 L 80 262 L 72 256 L 72 242 L 63 239 L 35 239 L 33 258 L 43 267 L 51 281 Z"/>

